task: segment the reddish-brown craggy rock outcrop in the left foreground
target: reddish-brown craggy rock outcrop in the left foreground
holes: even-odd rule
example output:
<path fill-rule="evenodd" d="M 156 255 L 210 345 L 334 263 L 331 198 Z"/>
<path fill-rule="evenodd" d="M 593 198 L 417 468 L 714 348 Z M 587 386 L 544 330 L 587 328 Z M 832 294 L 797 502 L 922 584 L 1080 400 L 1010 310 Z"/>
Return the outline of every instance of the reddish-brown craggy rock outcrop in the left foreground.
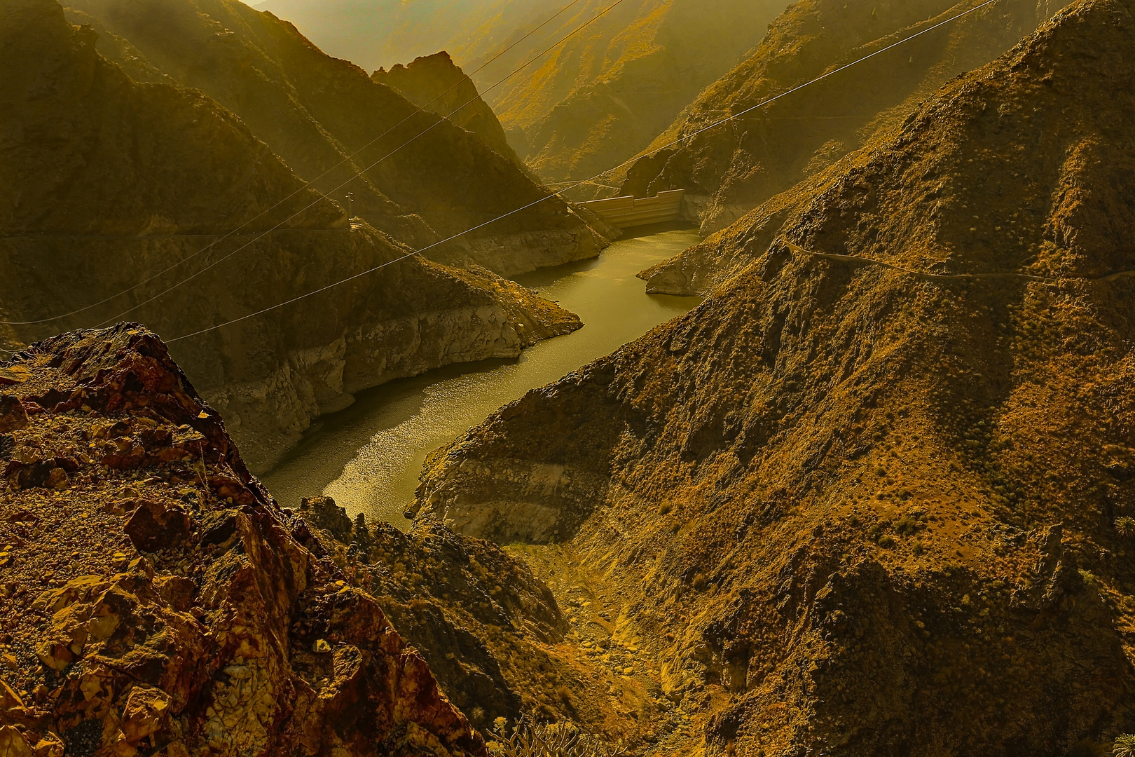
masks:
<path fill-rule="evenodd" d="M 487 757 L 154 335 L 0 365 L 0 748 Z"/>

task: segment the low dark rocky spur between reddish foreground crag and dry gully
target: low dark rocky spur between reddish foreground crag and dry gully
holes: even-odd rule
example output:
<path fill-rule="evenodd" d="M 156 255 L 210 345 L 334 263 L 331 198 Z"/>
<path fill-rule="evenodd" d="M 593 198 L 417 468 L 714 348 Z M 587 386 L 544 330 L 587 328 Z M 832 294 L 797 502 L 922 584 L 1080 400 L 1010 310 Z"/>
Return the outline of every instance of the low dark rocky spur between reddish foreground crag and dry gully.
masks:
<path fill-rule="evenodd" d="M 456 535 L 436 520 L 419 519 L 409 533 L 361 518 L 352 523 L 326 497 L 304 499 L 296 514 L 311 525 L 305 544 L 376 598 L 486 738 L 498 717 L 515 723 L 535 715 L 580 724 L 640 754 L 679 725 L 657 685 L 641 680 L 646 671 L 628 673 L 637 661 L 611 641 L 590 642 L 615 608 L 597 606 L 594 617 L 581 612 L 586 579 L 561 606 L 548 584 L 568 573 L 530 569 L 508 554 L 513 549 Z M 617 666 L 597 656 L 604 649 L 620 658 Z"/>

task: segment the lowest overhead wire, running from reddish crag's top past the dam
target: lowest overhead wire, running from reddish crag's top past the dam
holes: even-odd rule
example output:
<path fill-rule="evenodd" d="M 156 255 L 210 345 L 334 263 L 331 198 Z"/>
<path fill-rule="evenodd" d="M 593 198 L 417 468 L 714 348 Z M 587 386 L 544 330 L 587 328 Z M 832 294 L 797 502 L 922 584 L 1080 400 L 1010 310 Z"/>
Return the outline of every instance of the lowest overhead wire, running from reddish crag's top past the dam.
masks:
<path fill-rule="evenodd" d="M 886 52 L 889 50 L 893 50 L 894 48 L 897 48 L 899 45 L 902 45 L 902 44 L 909 42 L 910 40 L 914 40 L 916 37 L 922 36 L 923 34 L 928 34 L 930 32 L 932 32 L 932 31 L 934 31 L 936 28 L 940 28 L 940 27 L 942 27 L 942 26 L 944 26 L 947 24 L 950 24 L 950 23 L 952 23 L 955 20 L 958 20 L 959 18 L 968 16 L 969 14 L 973 14 L 973 12 L 975 12 L 977 10 L 981 10 L 982 8 L 985 8 L 986 6 L 991 6 L 994 2 L 997 2 L 997 1 L 998 0 L 984 0 L 984 2 L 982 2 L 982 3 L 977 5 L 977 6 L 974 6 L 973 8 L 968 9 L 968 10 L 965 10 L 965 11 L 962 11 L 960 14 L 957 14 L 956 16 L 951 16 L 950 18 L 947 18 L 947 19 L 944 19 L 942 22 L 939 22 L 938 24 L 928 26 L 928 27 L 926 27 L 926 28 L 924 28 L 924 30 L 922 30 L 922 31 L 919 31 L 919 32 L 917 32 L 915 34 L 911 34 L 910 36 L 903 37 L 902 40 L 899 40 L 898 42 L 894 42 L 894 43 L 889 44 L 889 45 L 886 45 L 884 48 L 881 48 L 881 49 L 878 49 L 878 50 L 876 50 L 876 51 L 874 51 L 874 52 L 872 52 L 869 54 L 866 54 L 863 58 L 857 58 L 856 60 L 854 60 L 854 61 L 851 61 L 849 64 L 846 64 L 843 66 L 834 68 L 834 69 L 832 69 L 832 70 L 830 70 L 830 72 L 827 72 L 825 74 L 822 74 L 821 76 L 817 76 L 816 78 L 813 78 L 813 79 L 809 79 L 808 82 L 805 82 L 804 84 L 800 84 L 800 85 L 797 85 L 797 86 L 791 87 L 789 90 L 785 90 L 784 92 L 781 92 L 781 93 L 779 93 L 779 94 L 776 94 L 776 95 L 774 95 L 772 98 L 763 100 L 762 102 L 759 102 L 759 103 L 757 103 L 757 104 L 755 104 L 755 106 L 753 106 L 750 108 L 746 108 L 745 110 L 741 110 L 741 111 L 739 111 L 737 113 L 733 113 L 733 115 L 731 115 L 731 116 L 729 116 L 726 118 L 722 118 L 722 119 L 720 119 L 720 120 L 717 120 L 717 121 L 715 121 L 715 123 L 713 123 L 713 124 L 711 124 L 708 126 L 705 126 L 705 127 L 699 128 L 699 129 L 697 129 L 695 132 L 691 132 L 690 134 L 687 134 L 683 137 L 674 140 L 673 142 L 670 142 L 669 144 L 664 144 L 661 148 L 656 148 L 656 149 L 654 149 L 654 150 L 651 150 L 649 152 L 642 153 L 640 155 L 636 155 L 634 158 L 631 158 L 630 160 L 627 160 L 627 161 L 624 161 L 624 162 L 615 166 L 614 168 L 608 168 L 607 170 L 602 171 L 599 174 L 596 174 L 595 176 L 591 176 L 589 178 L 582 179 L 580 182 L 575 182 L 574 184 L 572 184 L 566 190 L 562 190 L 561 192 L 549 194 L 549 195 L 547 195 L 545 197 L 540 197 L 539 200 L 537 200 L 535 202 L 531 202 L 531 203 L 529 203 L 527 205 L 522 205 L 520 208 L 516 208 L 515 210 L 511 210 L 507 213 L 504 213 L 502 216 L 498 216 L 498 217 L 494 218 L 493 220 L 486 221 L 484 224 L 479 224 L 479 225 L 473 226 L 472 228 L 468 228 L 464 232 L 461 232 L 459 234 L 454 234 L 453 236 L 449 236 L 449 237 L 447 237 L 445 239 L 442 239 L 440 242 L 436 242 L 434 244 L 430 244 L 430 245 L 427 245 L 424 247 L 421 247 L 420 250 L 415 250 L 413 252 L 409 252 L 409 253 L 406 253 L 404 255 L 401 255 L 401 256 L 395 258 L 393 260 L 388 260 L 388 261 L 386 261 L 384 263 L 380 263 L 378 266 L 369 268 L 369 269 L 367 269 L 364 271 L 361 271 L 359 274 L 354 274 L 353 276 L 348 276 L 347 278 L 344 278 L 344 279 L 340 279 L 340 280 L 335 281 L 333 284 L 328 284 L 326 286 L 319 287 L 319 288 L 313 289 L 311 292 L 308 292 L 305 294 L 292 297 L 291 300 L 286 300 L 284 302 L 279 302 L 279 303 L 277 303 L 275 305 L 270 305 L 268 308 L 262 308 L 261 310 L 258 310 L 255 312 L 249 313 L 246 316 L 242 316 L 239 318 L 234 318 L 234 319 L 225 321 L 222 323 L 217 323 L 217 325 L 210 326 L 208 328 L 199 329 L 196 331 L 191 331 L 188 334 L 184 334 L 182 336 L 174 337 L 171 339 L 167 339 L 166 342 L 167 342 L 167 344 L 173 344 L 175 342 L 180 342 L 183 339 L 188 339 L 188 338 L 192 338 L 192 337 L 201 336 L 203 334 L 209 334 L 211 331 L 216 331 L 216 330 L 225 328 L 227 326 L 232 326 L 234 323 L 239 323 L 239 322 L 250 320 L 252 318 L 257 318 L 258 316 L 263 316 L 264 313 L 269 313 L 269 312 L 271 312 L 274 310 L 279 310 L 280 308 L 286 308 L 287 305 L 291 305 L 293 303 L 300 302 L 301 300 L 305 300 L 308 297 L 314 296 L 317 294 L 321 294 L 321 293 L 327 292 L 329 289 L 334 289 L 334 288 L 336 288 L 338 286 L 342 286 L 344 284 L 347 284 L 350 281 L 354 281 L 355 279 L 359 279 L 359 278 L 362 278 L 363 276 L 368 276 L 370 274 L 373 274 L 375 271 L 381 270 L 381 269 L 386 268 L 387 266 L 393 266 L 394 263 L 397 263 L 397 262 L 401 262 L 403 260 L 406 260 L 407 258 L 413 258 L 415 255 L 419 255 L 419 254 L 421 254 L 423 252 L 427 252 L 428 250 L 432 250 L 434 247 L 437 247 L 437 246 L 439 246 L 442 244 L 445 244 L 447 242 L 452 242 L 452 241 L 454 241 L 454 239 L 456 239 L 456 238 L 459 238 L 461 236 L 464 236 L 465 234 L 470 234 L 472 232 L 477 232 L 479 229 L 485 228 L 486 226 L 495 224 L 495 222 L 497 222 L 499 220 L 504 220 L 505 218 L 508 218 L 510 216 L 514 216 L 514 215 L 516 215 L 519 212 L 523 212 L 524 210 L 528 210 L 529 208 L 538 205 L 541 202 L 544 202 L 546 200 L 549 200 L 550 197 L 558 196 L 560 194 L 562 194 L 564 192 L 570 192 L 571 190 L 573 190 L 575 187 L 582 186 L 585 184 L 592 183 L 596 179 L 602 178 L 603 176 L 606 176 L 607 174 L 612 174 L 612 173 L 619 170 L 620 168 L 623 168 L 624 166 L 628 166 L 628 165 L 630 165 L 630 163 L 632 163 L 632 162 L 634 162 L 637 160 L 640 160 L 641 158 L 646 158 L 646 157 L 649 157 L 649 155 L 657 154 L 658 152 L 662 152 L 663 150 L 669 150 L 670 148 L 676 146 L 676 145 L 683 143 L 683 142 L 692 140 L 693 137 L 696 137 L 696 136 L 698 136 L 700 134 L 704 134 L 704 133 L 708 132 L 709 129 L 716 128 L 717 126 L 721 126 L 722 124 L 726 124 L 726 123 L 729 123 L 731 120 L 734 120 L 737 118 L 746 116 L 746 115 L 748 115 L 748 113 L 750 113 L 754 110 L 757 110 L 759 108 L 764 108 L 765 106 L 768 106 L 768 104 L 771 104 L 771 103 L 773 103 L 773 102 L 775 102 L 777 100 L 781 100 L 782 98 L 785 98 L 785 96 L 788 96 L 790 94 L 793 94 L 794 92 L 799 92 L 800 90 L 802 90 L 802 89 L 805 89 L 807 86 L 810 86 L 810 85 L 813 85 L 813 84 L 815 84 L 817 82 L 821 82 L 821 81 L 823 81 L 825 78 L 834 76 L 834 75 L 836 75 L 836 74 L 839 74 L 841 72 L 844 72 L 844 70 L 851 68 L 852 66 L 857 66 L 857 65 L 861 64 L 865 60 L 869 60 L 871 58 L 880 56 L 880 54 L 882 54 L 882 53 L 884 53 L 884 52 Z"/>

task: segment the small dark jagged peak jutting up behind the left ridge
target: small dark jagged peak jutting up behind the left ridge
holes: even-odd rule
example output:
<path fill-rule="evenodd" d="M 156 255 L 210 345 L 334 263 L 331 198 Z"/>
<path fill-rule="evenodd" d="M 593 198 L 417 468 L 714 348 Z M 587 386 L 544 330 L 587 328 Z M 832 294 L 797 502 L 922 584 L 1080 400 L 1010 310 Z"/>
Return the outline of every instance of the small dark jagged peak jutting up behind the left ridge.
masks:
<path fill-rule="evenodd" d="M 419 108 L 447 116 L 457 126 L 481 137 L 499 154 L 521 165 L 520 158 L 508 146 L 496 113 L 481 100 L 473 81 L 454 65 L 449 53 L 415 58 L 405 66 L 392 66 L 390 70 L 379 68 L 370 77 Z"/>

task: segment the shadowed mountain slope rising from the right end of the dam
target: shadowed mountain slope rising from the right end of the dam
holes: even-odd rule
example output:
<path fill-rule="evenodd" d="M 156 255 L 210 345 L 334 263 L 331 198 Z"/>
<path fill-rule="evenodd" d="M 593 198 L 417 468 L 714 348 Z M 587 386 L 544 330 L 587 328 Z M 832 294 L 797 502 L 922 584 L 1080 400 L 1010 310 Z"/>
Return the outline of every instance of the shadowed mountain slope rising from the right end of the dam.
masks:
<path fill-rule="evenodd" d="M 1062 0 L 998 0 L 933 31 L 977 2 L 801 0 L 760 47 L 707 87 L 651 145 L 693 134 L 836 68 L 875 57 L 757 111 L 640 159 L 622 192 L 687 190 L 705 234 L 720 230 L 893 126 L 948 79 L 985 65 L 1059 9 Z M 884 48 L 925 32 L 893 50 Z"/>

